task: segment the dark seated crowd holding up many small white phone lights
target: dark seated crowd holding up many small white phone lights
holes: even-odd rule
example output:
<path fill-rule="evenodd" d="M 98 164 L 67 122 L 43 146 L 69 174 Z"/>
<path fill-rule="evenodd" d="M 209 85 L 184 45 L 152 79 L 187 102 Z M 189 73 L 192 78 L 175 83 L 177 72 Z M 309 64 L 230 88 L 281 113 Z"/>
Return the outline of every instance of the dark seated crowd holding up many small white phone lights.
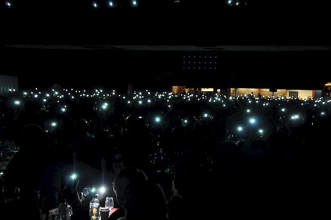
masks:
<path fill-rule="evenodd" d="M 116 198 L 109 220 L 323 216 L 330 113 L 329 97 L 13 91 L 0 216 L 41 219 L 66 199 L 89 219 L 86 187 Z"/>

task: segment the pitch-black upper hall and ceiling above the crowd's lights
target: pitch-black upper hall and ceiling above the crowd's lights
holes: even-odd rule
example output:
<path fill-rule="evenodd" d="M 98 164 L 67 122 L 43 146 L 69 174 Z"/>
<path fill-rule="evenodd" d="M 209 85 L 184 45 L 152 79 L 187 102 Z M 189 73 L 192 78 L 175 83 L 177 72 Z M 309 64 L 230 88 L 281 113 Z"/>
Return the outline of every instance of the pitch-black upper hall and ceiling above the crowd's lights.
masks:
<path fill-rule="evenodd" d="M 330 48 L 329 1 L 138 1 L 137 8 L 109 9 L 91 1 L 12 1 L 2 9 L 2 74 L 20 87 L 61 85 L 148 88 L 240 86 L 319 89 L 330 81 L 330 49 L 319 51 L 220 51 L 215 45 L 317 45 Z M 217 4 L 215 3 L 217 2 Z M 15 5 L 15 7 L 14 7 Z M 157 6 L 158 5 L 158 6 Z M 43 49 L 6 45 L 46 45 Z M 50 49 L 47 45 L 73 45 Z M 173 50 L 135 50 L 91 45 L 172 45 Z M 217 54 L 216 70 L 183 70 L 196 45 Z"/>

